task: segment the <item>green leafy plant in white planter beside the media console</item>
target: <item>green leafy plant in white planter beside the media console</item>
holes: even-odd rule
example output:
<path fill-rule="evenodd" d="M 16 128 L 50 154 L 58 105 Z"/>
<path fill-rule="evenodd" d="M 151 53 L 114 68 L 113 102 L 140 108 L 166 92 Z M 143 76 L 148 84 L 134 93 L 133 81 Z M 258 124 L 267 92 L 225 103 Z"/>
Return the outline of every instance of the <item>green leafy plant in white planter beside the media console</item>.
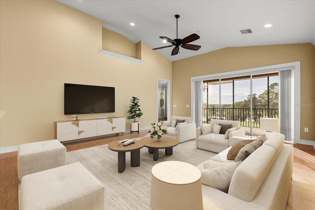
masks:
<path fill-rule="evenodd" d="M 127 113 L 129 113 L 127 119 L 133 119 L 133 122 L 130 122 L 130 133 L 134 131 L 139 133 L 139 122 L 136 121 L 136 118 L 140 118 L 143 115 L 139 105 L 139 98 L 132 96 Z"/>

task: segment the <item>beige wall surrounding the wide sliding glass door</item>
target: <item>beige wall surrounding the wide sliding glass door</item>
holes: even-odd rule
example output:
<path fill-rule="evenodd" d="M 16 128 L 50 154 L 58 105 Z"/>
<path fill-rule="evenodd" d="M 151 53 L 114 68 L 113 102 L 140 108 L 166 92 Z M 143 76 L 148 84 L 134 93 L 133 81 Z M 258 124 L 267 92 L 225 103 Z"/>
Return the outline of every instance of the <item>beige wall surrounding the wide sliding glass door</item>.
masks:
<path fill-rule="evenodd" d="M 191 77 L 301 61 L 301 104 L 315 104 L 315 47 L 286 44 L 224 48 L 173 62 L 173 115 L 190 116 Z M 186 92 L 188 94 L 182 94 Z M 315 141 L 315 107 L 301 107 L 301 139 Z M 304 127 L 309 132 L 304 132 Z"/>

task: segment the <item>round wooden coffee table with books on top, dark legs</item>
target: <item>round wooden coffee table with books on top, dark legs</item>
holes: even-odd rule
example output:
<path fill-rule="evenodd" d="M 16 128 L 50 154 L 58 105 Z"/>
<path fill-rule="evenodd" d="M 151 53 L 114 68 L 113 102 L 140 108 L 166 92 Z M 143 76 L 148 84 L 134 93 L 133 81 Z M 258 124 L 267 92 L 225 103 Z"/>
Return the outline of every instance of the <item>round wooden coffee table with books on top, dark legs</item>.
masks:
<path fill-rule="evenodd" d="M 144 144 L 135 140 L 134 144 L 125 147 L 118 145 L 119 141 L 111 142 L 108 144 L 108 149 L 118 152 L 118 173 L 122 173 L 126 169 L 126 152 L 130 151 L 130 166 L 140 166 L 140 149 Z"/>

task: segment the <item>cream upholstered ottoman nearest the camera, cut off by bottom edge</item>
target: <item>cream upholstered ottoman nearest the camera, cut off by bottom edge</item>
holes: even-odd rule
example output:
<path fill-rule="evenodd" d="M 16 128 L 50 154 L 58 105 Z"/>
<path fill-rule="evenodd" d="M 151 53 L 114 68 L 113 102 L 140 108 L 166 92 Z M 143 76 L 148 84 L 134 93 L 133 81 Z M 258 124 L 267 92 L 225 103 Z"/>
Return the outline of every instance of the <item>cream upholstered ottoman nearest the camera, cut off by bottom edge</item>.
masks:
<path fill-rule="evenodd" d="M 20 210 L 103 210 L 105 189 L 81 163 L 26 175 Z"/>

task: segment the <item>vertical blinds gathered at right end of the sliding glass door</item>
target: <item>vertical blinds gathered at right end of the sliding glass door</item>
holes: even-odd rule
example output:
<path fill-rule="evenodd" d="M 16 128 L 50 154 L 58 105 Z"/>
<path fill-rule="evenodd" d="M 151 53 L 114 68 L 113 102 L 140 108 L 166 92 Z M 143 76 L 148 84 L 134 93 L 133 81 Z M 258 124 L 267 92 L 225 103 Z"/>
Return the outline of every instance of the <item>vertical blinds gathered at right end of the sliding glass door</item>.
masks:
<path fill-rule="evenodd" d="M 279 71 L 279 121 L 280 133 L 284 134 L 286 141 L 293 142 L 294 137 L 294 104 L 292 70 Z"/>

